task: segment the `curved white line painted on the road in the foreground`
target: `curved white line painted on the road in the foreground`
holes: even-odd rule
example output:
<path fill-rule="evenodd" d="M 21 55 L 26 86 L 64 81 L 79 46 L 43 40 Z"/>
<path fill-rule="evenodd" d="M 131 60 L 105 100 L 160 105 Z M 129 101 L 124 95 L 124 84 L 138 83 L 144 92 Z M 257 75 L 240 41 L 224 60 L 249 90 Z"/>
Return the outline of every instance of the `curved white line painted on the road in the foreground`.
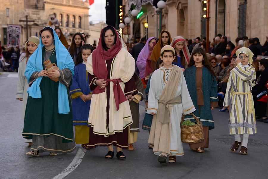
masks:
<path fill-rule="evenodd" d="M 52 179 L 62 179 L 64 177 L 66 177 L 69 173 L 74 171 L 74 169 L 76 169 L 76 167 L 81 163 L 81 161 L 85 155 L 85 152 L 86 152 L 85 149 L 80 147 L 78 149 L 73 161 L 71 162 L 71 164 L 69 164 L 66 169 L 64 169 L 62 172 L 60 172 L 58 175 L 56 175 Z"/>

